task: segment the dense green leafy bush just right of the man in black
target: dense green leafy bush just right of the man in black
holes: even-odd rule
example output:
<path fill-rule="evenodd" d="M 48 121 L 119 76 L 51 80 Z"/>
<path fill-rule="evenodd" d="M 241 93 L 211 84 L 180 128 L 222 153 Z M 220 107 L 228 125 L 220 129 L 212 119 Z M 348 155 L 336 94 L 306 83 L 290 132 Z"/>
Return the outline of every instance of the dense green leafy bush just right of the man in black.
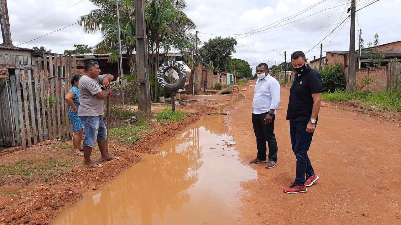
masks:
<path fill-rule="evenodd" d="M 322 76 L 323 92 L 343 91 L 346 88 L 345 75 L 341 72 L 341 64 L 324 66 L 317 70 Z"/>

